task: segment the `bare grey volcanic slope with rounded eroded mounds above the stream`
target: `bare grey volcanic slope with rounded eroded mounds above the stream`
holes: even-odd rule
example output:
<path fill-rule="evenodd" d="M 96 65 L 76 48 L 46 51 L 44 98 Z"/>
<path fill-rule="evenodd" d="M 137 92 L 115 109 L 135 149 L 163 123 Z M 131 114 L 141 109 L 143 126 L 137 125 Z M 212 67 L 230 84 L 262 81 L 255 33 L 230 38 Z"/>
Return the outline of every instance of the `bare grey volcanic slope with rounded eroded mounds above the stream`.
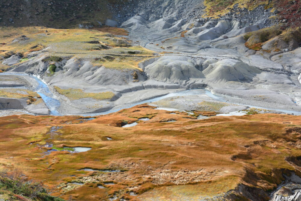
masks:
<path fill-rule="evenodd" d="M 271 9 L 259 6 L 248 11 L 234 7 L 230 14 L 210 19 L 201 17 L 205 8 L 202 1 L 131 2 L 121 10 L 117 9 L 119 5 L 110 7 L 115 16 L 112 19 L 129 31 L 128 38 L 135 41 L 132 45 L 163 53 L 139 64 L 143 71 L 136 71 L 138 81 L 133 82 L 135 70 L 94 68 L 89 61 L 67 57 L 56 62 L 61 68 L 48 77 L 43 51 L 35 52 L 36 57 L 11 71 L 45 80 L 61 100 L 61 114 L 98 113 L 179 90 L 205 88 L 230 103 L 301 111 L 300 44 L 277 39 L 276 52 L 256 52 L 245 46 L 245 33 L 278 23 L 272 20 Z M 3 63 L 13 65 L 16 61 L 13 56 Z M 103 101 L 70 100 L 55 92 L 54 86 L 85 92 L 113 91 L 115 96 Z M 101 106 L 91 107 L 96 104 Z M 164 104 L 173 106 L 172 102 Z"/>

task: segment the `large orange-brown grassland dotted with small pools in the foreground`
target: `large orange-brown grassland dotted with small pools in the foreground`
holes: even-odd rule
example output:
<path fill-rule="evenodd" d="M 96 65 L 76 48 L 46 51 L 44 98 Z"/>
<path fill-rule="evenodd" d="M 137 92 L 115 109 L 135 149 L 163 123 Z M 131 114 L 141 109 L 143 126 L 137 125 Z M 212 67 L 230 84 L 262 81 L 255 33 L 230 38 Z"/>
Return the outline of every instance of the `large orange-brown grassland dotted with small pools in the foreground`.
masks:
<path fill-rule="evenodd" d="M 256 114 L 200 120 L 184 112 L 169 113 L 138 105 L 84 123 L 79 116 L 1 117 L 0 166 L 58 186 L 64 193 L 62 198 L 72 200 L 113 196 L 128 200 L 199 199 L 225 193 L 239 184 L 269 191 L 281 183 L 282 174 L 294 171 L 301 176 L 297 166 L 301 155 L 299 116 Z M 146 117 L 150 120 L 138 121 Z M 176 121 L 167 122 L 170 120 Z M 135 121 L 135 127 L 121 127 Z M 54 126 L 59 126 L 57 131 L 50 132 Z M 51 149 L 44 146 L 46 143 L 57 149 L 92 149 L 44 155 Z M 287 160 L 289 156 L 295 160 Z M 82 168 L 120 172 L 79 171 Z"/>

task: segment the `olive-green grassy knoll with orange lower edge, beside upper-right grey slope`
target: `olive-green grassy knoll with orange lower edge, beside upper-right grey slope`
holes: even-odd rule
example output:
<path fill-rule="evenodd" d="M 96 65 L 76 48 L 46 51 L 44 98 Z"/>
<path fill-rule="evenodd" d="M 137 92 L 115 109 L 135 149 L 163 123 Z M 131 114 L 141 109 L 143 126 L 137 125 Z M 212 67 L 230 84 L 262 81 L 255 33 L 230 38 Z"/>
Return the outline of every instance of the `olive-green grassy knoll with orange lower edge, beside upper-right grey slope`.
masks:
<path fill-rule="evenodd" d="M 247 41 L 245 46 L 249 49 L 260 50 L 262 44 L 282 33 L 279 26 L 267 27 L 257 31 L 252 31 L 244 35 L 244 39 Z"/>

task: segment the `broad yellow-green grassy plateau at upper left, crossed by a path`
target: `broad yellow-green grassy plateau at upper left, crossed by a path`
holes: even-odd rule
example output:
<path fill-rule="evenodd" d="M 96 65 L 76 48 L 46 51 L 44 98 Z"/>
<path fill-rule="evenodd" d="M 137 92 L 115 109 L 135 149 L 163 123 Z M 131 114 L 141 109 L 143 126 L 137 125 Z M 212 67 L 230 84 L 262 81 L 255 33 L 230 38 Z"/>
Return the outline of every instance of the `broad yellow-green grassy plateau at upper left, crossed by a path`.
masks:
<path fill-rule="evenodd" d="M 130 46 L 126 39 L 98 30 L 48 29 L 47 33 L 45 30 L 41 27 L 36 29 L 20 28 L 19 30 L 9 28 L 3 30 L 2 35 L 0 31 L 0 39 L 5 43 L 5 45 L 0 46 L 0 50 L 5 50 L 5 52 L 0 53 L 0 55 L 6 56 L 18 52 L 26 56 L 29 52 L 49 47 L 48 51 L 44 53 L 48 57 L 74 57 L 89 60 L 93 65 L 102 65 L 106 68 L 142 71 L 138 64 L 153 57 L 155 53 L 141 46 Z M 8 35 L 7 32 L 11 35 Z M 26 35 L 29 40 L 22 40 L 21 43 L 12 42 L 15 38 L 22 39 L 21 35 Z M 91 43 L 91 41 L 93 42 Z M 100 46 L 101 50 L 93 50 L 96 46 Z M 102 49 L 101 46 L 107 46 L 107 49 Z M 108 56 L 114 57 L 114 59 L 106 59 L 105 57 Z"/>

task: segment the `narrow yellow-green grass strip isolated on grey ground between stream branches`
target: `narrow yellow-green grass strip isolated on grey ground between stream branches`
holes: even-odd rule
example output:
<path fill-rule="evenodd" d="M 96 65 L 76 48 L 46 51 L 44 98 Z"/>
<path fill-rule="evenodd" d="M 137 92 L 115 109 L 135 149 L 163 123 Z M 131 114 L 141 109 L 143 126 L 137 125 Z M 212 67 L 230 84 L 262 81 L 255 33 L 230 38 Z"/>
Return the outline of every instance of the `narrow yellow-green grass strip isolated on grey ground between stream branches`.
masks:
<path fill-rule="evenodd" d="M 86 93 L 84 91 L 82 91 L 81 89 L 61 89 L 58 86 L 54 86 L 54 89 L 68 97 L 71 100 L 78 100 L 78 99 L 83 99 L 83 98 L 92 98 L 92 99 L 96 99 L 96 100 L 105 100 L 105 99 L 112 99 L 114 97 L 114 93 L 113 92 L 101 92 L 101 93 Z"/>

